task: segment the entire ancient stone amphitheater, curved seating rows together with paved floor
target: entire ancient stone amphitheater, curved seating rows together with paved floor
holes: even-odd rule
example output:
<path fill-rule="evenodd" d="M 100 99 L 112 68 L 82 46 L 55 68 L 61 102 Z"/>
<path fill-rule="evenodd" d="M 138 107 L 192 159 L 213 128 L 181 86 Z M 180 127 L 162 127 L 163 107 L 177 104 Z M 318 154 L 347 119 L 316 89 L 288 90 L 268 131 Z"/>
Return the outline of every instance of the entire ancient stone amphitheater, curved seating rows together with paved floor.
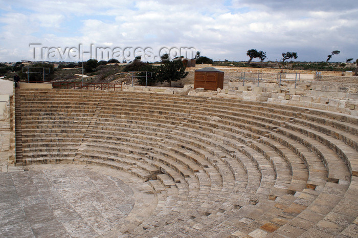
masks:
<path fill-rule="evenodd" d="M 64 89 L 7 106 L 2 237 L 358 237 L 356 116 Z"/>

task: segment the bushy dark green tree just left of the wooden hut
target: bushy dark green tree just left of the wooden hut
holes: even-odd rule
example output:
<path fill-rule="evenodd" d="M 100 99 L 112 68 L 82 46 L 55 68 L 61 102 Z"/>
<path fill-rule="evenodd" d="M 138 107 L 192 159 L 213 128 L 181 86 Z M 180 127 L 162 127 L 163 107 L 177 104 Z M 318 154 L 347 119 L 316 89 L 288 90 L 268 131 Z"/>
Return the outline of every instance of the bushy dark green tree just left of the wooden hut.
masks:
<path fill-rule="evenodd" d="M 185 65 L 181 59 L 173 61 L 165 60 L 159 68 L 158 81 L 169 82 L 169 86 L 171 87 L 171 82 L 185 78 L 188 73 L 189 72 L 185 72 Z"/>

